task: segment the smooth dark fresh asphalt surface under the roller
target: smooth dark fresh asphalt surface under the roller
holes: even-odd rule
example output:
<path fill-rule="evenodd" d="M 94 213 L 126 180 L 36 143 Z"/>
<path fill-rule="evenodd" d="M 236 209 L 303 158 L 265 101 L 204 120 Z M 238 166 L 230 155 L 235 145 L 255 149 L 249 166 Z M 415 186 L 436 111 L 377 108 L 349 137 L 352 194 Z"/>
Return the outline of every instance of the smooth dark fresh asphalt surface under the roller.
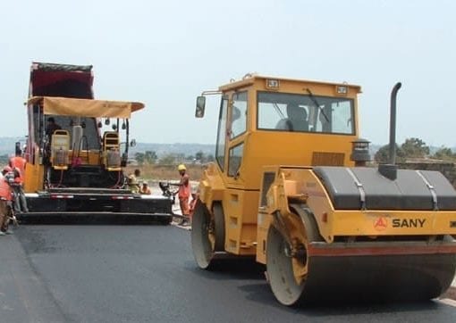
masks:
<path fill-rule="evenodd" d="M 0 322 L 61 321 L 456 322 L 456 308 L 287 308 L 275 302 L 258 266 L 197 269 L 190 232 L 173 226 L 23 225 L 0 236 Z"/>

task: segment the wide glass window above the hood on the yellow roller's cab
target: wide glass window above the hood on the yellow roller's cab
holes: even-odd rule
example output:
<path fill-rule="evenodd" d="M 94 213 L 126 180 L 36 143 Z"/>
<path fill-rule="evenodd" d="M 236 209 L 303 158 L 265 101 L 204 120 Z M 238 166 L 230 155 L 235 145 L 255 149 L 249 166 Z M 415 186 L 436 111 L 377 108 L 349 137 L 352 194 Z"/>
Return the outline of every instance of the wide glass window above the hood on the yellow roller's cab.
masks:
<path fill-rule="evenodd" d="M 354 135 L 353 100 L 258 92 L 258 129 Z"/>

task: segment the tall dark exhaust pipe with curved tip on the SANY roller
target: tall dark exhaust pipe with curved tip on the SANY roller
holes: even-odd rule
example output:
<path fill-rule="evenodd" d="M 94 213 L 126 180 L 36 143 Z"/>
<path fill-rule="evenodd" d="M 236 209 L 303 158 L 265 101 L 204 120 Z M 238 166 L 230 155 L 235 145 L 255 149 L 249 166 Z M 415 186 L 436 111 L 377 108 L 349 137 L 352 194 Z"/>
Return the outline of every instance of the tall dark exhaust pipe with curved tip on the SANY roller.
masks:
<path fill-rule="evenodd" d="M 378 171 L 385 178 L 395 180 L 397 178 L 396 167 L 396 101 L 397 93 L 401 88 L 401 82 L 396 83 L 391 91 L 390 102 L 390 145 L 389 145 L 389 161 L 386 164 L 378 165 Z"/>

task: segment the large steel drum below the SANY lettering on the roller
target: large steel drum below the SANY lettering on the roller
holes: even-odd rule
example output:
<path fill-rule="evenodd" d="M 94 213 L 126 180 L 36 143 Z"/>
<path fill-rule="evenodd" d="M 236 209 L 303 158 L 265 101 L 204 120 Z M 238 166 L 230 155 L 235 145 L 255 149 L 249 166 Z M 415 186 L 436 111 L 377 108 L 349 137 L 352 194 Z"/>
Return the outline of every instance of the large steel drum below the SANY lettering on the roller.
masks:
<path fill-rule="evenodd" d="M 308 272 L 298 284 L 292 258 L 283 252 L 286 242 L 272 227 L 267 244 L 267 276 L 275 297 L 285 305 L 429 300 L 443 294 L 456 273 L 456 255 L 436 253 L 442 246 L 442 250 L 445 246 L 454 249 L 451 237 L 434 244 L 312 242 L 307 247 Z"/>

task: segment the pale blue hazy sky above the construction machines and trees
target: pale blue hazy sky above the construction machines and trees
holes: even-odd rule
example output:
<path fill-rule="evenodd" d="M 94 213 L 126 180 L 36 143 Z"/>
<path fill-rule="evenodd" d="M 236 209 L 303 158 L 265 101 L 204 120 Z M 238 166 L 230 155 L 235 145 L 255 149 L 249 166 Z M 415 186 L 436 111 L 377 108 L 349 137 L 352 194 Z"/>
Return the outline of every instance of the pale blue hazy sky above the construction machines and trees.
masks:
<path fill-rule="evenodd" d="M 214 144 L 217 98 L 196 96 L 249 72 L 358 84 L 360 137 L 456 146 L 455 1 L 2 1 L 0 137 L 27 132 L 31 62 L 94 66 L 96 98 L 139 101 L 131 137 Z"/>

